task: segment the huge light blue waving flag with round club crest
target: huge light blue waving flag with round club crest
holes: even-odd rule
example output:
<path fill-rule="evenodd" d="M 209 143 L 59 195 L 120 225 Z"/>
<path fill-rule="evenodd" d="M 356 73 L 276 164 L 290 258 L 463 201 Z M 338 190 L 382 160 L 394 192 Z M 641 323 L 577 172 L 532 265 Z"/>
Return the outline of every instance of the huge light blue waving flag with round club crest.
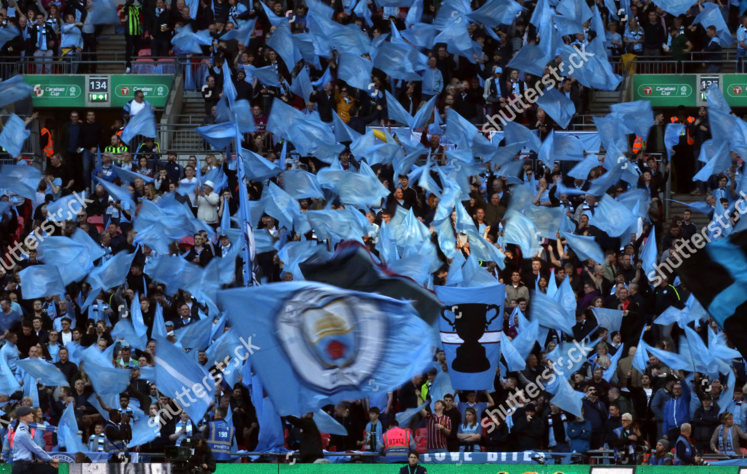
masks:
<path fill-rule="evenodd" d="M 282 416 L 394 390 L 431 358 L 427 323 L 409 303 L 380 295 L 283 282 L 223 290 L 219 304 L 238 333 L 252 335 L 249 362 Z M 293 336 L 297 321 L 308 339 Z M 388 330 L 386 345 L 359 338 L 379 330 Z"/>

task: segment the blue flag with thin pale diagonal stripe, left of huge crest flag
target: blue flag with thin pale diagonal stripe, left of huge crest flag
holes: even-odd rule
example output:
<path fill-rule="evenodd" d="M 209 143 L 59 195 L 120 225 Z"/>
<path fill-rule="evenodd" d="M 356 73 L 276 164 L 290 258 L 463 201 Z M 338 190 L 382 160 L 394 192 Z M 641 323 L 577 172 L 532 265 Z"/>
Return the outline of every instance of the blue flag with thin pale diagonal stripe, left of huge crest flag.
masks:
<path fill-rule="evenodd" d="M 158 351 L 154 359 L 158 391 L 179 400 L 191 419 L 202 419 L 214 398 L 213 378 L 182 349 L 165 339 L 156 340 Z M 185 393 L 189 395 L 188 403 L 183 399 Z"/>

